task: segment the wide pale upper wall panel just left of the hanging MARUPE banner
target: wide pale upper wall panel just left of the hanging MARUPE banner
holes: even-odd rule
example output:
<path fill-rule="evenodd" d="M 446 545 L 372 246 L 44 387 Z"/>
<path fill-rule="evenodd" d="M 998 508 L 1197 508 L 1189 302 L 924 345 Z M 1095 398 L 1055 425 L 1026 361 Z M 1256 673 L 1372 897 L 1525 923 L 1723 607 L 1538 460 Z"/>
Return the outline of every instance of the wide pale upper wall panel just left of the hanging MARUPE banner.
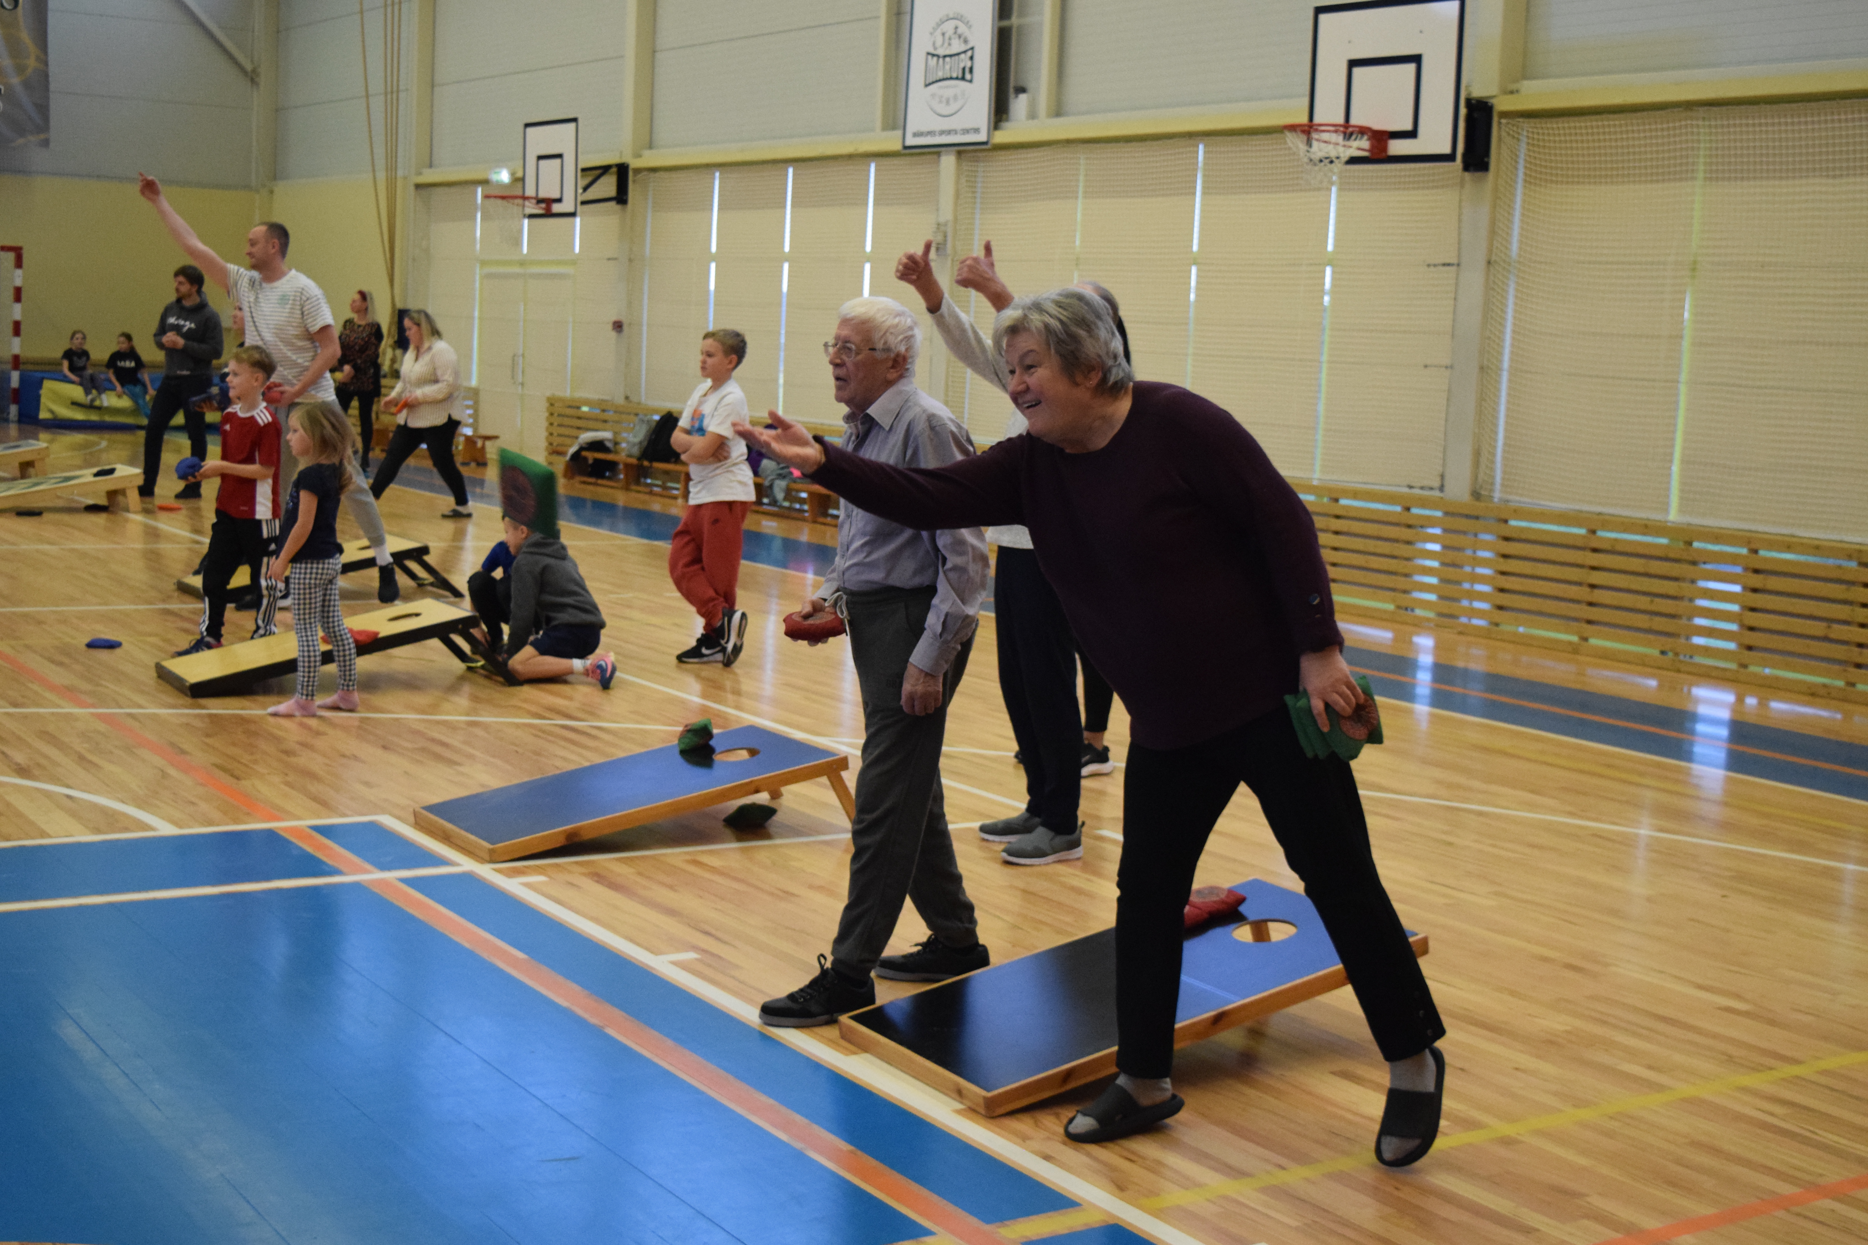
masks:
<path fill-rule="evenodd" d="M 656 7 L 658 147 L 876 127 L 874 0 Z"/>

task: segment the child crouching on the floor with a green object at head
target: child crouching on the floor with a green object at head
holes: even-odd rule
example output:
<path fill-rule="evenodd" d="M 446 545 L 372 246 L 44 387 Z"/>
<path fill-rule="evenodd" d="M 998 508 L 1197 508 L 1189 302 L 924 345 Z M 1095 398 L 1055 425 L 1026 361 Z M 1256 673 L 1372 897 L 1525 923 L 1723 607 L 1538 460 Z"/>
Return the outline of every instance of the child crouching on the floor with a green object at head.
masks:
<path fill-rule="evenodd" d="M 467 579 L 482 627 L 474 640 L 495 663 L 504 655 L 506 674 L 521 683 L 581 674 L 609 691 L 616 659 L 590 657 L 603 638 L 603 612 L 559 541 L 559 478 L 544 463 L 501 452 L 499 500 L 510 560 L 495 547 Z M 506 573 L 493 579 L 501 564 Z"/>

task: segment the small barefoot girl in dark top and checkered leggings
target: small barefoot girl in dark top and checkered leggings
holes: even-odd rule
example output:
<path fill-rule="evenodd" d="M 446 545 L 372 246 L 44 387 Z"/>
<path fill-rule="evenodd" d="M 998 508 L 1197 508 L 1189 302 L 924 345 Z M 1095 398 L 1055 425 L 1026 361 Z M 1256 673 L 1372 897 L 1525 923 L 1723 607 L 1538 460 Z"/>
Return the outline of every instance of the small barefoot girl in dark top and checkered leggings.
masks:
<path fill-rule="evenodd" d="M 232 371 L 228 385 L 232 386 Z M 299 687 L 291 700 L 267 709 L 273 717 L 318 717 L 319 709 L 357 709 L 357 640 L 338 609 L 338 575 L 344 573 L 344 545 L 338 543 L 338 498 L 351 491 L 349 420 L 336 403 L 306 403 L 291 413 L 286 444 L 299 459 L 299 476 L 286 502 L 286 543 L 267 575 L 284 582 L 291 575 L 291 629 L 299 636 Z M 318 629 L 331 636 L 338 663 L 338 691 L 312 704 L 318 694 L 318 664 L 323 651 Z"/>

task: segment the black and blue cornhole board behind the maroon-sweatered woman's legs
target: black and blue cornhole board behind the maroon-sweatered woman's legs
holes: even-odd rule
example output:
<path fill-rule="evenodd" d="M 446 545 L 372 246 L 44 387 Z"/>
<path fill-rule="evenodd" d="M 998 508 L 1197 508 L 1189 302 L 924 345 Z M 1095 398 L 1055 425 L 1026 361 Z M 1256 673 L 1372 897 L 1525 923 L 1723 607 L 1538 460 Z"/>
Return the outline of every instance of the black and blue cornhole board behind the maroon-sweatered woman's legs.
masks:
<path fill-rule="evenodd" d="M 1242 913 L 1186 937 L 1177 1047 L 1349 984 L 1309 900 L 1259 879 L 1233 890 Z M 1276 922 L 1295 931 L 1274 937 Z M 1408 943 L 1427 954 L 1425 933 Z M 1016 1111 L 1115 1071 L 1115 930 L 850 1012 L 839 1032 L 979 1114 Z"/>

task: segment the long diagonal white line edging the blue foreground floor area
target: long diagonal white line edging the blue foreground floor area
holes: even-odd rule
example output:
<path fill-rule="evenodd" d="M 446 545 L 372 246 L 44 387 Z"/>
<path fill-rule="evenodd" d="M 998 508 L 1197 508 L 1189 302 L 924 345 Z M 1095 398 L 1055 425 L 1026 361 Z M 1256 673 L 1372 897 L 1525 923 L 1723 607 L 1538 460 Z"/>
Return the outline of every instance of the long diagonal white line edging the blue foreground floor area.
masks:
<path fill-rule="evenodd" d="M 424 847 L 430 846 L 430 840 L 426 836 L 422 836 L 407 823 L 398 821 L 396 818 L 377 816 L 374 819 L 394 829 L 398 834 L 403 834 L 405 838 L 422 844 Z M 601 943 L 603 946 L 609 946 L 626 959 L 633 959 L 650 972 L 656 972 L 674 982 L 682 989 L 699 995 L 700 999 L 706 999 L 708 1002 L 727 1012 L 729 1015 L 734 1015 L 747 1025 L 755 1025 L 762 1034 L 773 1038 L 775 1042 L 785 1042 L 786 1045 L 800 1051 L 807 1058 L 814 1058 L 820 1064 L 828 1064 L 829 1068 L 841 1071 L 852 1081 L 863 1083 L 876 1094 L 906 1107 L 908 1111 L 913 1111 L 915 1114 L 919 1114 L 923 1120 L 928 1120 L 936 1127 L 943 1127 L 949 1133 L 956 1133 L 964 1140 L 973 1142 L 977 1148 L 996 1154 L 998 1157 L 1005 1159 L 1014 1167 L 1022 1167 L 1033 1176 L 1039 1176 L 1050 1182 L 1054 1187 L 1082 1200 L 1085 1206 L 1095 1206 L 1097 1210 L 1106 1211 L 1111 1219 L 1128 1223 L 1130 1226 L 1139 1228 L 1141 1232 L 1151 1232 L 1168 1245 L 1205 1245 L 1197 1238 L 1192 1238 L 1186 1232 L 1181 1232 L 1179 1228 L 1162 1223 L 1154 1215 L 1149 1215 L 1147 1211 L 1130 1206 L 1113 1193 L 1098 1189 L 1082 1176 L 1074 1176 L 1063 1170 L 1061 1167 L 1050 1163 L 1048 1159 L 1040 1159 L 1039 1155 L 1031 1154 L 1018 1142 L 999 1137 L 986 1126 L 968 1118 L 966 1107 L 962 1107 L 960 1103 L 938 1096 L 934 1090 L 927 1088 L 917 1081 L 908 1081 L 902 1073 L 897 1073 L 893 1068 L 874 1058 L 872 1055 L 837 1055 L 824 1043 L 816 1042 L 814 1038 L 807 1038 L 794 1028 L 768 1028 L 764 1025 L 758 1025 L 758 1008 L 727 993 L 725 989 L 714 986 L 712 982 L 706 982 L 695 976 L 693 972 L 687 972 L 686 969 L 669 963 L 667 958 L 656 956 L 648 948 L 637 946 L 635 943 L 624 939 L 622 935 L 611 933 L 603 926 L 596 924 L 587 916 L 579 916 L 562 903 L 557 903 L 540 894 L 534 894 L 525 887 L 516 885 L 510 877 L 493 872 L 491 868 L 480 864 L 478 860 L 471 860 L 469 857 L 461 855 L 460 851 L 456 851 L 446 844 L 433 844 L 433 849 L 446 857 L 454 857 L 463 866 L 467 866 L 469 872 L 478 874 L 482 879 L 486 879 L 493 887 L 499 887 L 501 890 L 517 898 L 519 902 L 529 903 L 534 909 L 545 913 L 547 916 L 570 926 L 572 930 L 577 930 L 579 933 Z"/>

